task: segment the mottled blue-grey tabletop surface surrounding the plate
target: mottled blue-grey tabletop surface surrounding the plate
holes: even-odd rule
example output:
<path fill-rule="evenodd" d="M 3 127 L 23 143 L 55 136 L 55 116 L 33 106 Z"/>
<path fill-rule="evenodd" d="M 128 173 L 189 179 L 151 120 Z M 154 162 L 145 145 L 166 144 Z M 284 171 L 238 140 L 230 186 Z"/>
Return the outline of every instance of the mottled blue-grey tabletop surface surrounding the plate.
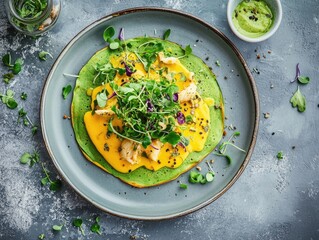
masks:
<path fill-rule="evenodd" d="M 2 3 L 1 3 L 2 4 Z M 21 56 L 23 71 L 0 92 L 28 94 L 19 99 L 32 122 L 39 123 L 41 89 L 54 59 L 81 29 L 111 12 L 128 7 L 174 8 L 202 18 L 224 32 L 239 48 L 253 72 L 259 91 L 261 119 L 251 161 L 235 183 L 211 205 L 177 219 L 148 222 L 110 216 L 82 200 L 66 184 L 58 192 L 42 187 L 40 165 L 21 165 L 24 152 L 38 149 L 53 178 L 57 172 L 44 147 L 41 133 L 17 123 L 18 111 L 0 104 L 0 239 L 319 239 L 319 1 L 282 1 L 283 21 L 269 40 L 251 44 L 239 40 L 226 19 L 227 1 L 136 0 L 63 1 L 57 25 L 32 39 L 17 33 L 0 7 L 0 56 Z M 40 62 L 38 52 L 53 59 Z M 268 53 L 271 51 L 271 53 Z M 261 58 L 257 59 L 257 54 Z M 265 55 L 265 58 L 263 57 Z M 296 90 L 290 84 L 295 66 L 311 78 L 300 86 L 307 109 L 299 113 L 289 102 Z M 3 65 L 0 73 L 6 73 Z M 269 118 L 264 118 L 269 113 Z M 276 154 L 283 151 L 284 158 Z M 90 232 L 100 216 L 102 235 Z M 85 236 L 72 226 L 83 219 Z M 64 224 L 53 232 L 54 224 Z"/>

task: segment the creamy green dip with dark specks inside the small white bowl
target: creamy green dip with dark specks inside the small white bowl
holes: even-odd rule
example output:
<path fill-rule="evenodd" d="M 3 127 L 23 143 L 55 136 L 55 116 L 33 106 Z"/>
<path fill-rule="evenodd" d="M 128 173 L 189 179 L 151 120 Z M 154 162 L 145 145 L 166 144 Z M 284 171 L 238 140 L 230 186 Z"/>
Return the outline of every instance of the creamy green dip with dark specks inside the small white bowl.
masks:
<path fill-rule="evenodd" d="M 239 33 L 256 38 L 269 31 L 274 15 L 264 1 L 244 0 L 235 8 L 232 19 Z"/>

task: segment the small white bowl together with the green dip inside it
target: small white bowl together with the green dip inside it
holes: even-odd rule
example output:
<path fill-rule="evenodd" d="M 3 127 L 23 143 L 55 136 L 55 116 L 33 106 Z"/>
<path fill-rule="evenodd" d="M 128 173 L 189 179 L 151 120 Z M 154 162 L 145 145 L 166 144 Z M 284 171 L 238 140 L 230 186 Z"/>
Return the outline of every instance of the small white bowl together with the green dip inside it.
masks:
<path fill-rule="evenodd" d="M 231 30 L 247 42 L 271 37 L 282 19 L 280 0 L 229 0 L 227 19 Z"/>

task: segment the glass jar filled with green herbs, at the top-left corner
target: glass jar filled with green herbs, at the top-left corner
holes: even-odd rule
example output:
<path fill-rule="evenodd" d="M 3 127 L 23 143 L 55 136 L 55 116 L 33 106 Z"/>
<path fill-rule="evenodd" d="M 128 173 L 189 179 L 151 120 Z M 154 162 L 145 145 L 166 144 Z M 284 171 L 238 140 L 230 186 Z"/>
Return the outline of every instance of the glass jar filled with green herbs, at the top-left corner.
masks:
<path fill-rule="evenodd" d="M 5 0 L 9 22 L 26 35 L 37 36 L 58 20 L 60 0 Z"/>

